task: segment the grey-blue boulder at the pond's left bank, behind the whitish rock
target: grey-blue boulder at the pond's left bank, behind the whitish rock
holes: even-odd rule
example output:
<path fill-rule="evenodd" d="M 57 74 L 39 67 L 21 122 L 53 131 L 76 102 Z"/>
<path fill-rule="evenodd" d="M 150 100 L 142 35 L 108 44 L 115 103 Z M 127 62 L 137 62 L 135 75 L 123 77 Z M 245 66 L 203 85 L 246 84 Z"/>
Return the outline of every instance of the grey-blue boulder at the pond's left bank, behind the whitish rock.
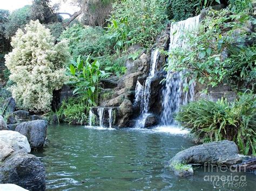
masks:
<path fill-rule="evenodd" d="M 28 138 L 31 148 L 41 148 L 46 138 L 47 122 L 45 120 L 23 122 L 16 126 L 15 131 Z"/>

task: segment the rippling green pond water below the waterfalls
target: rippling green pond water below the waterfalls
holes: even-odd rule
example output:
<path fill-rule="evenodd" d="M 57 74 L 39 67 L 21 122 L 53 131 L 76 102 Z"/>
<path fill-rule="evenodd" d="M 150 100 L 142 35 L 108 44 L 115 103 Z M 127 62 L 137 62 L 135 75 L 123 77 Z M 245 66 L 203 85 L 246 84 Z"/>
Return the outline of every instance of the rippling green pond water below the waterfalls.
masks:
<path fill-rule="evenodd" d="M 33 154 L 46 167 L 48 190 L 219 190 L 214 188 L 216 182 L 205 181 L 205 176 L 227 176 L 231 172 L 208 173 L 208 168 L 205 172 L 204 167 L 198 167 L 194 176 L 178 178 L 170 171 L 168 161 L 194 145 L 176 130 L 51 125 L 44 150 Z M 233 175 L 245 175 L 246 185 L 244 182 L 239 188 L 235 182 L 227 182 L 220 190 L 256 189 L 255 174 Z"/>

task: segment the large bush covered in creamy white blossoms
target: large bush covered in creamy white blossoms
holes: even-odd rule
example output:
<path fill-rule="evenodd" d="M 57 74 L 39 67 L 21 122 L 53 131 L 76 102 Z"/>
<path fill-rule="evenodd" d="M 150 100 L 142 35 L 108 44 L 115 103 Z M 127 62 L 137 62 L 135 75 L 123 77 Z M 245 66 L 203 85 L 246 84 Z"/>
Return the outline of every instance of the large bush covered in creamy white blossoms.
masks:
<path fill-rule="evenodd" d="M 65 41 L 54 44 L 50 30 L 38 20 L 18 30 L 12 38 L 12 52 L 5 55 L 5 65 L 11 72 L 10 88 L 18 108 L 49 111 L 52 91 L 60 89 L 66 80 L 65 63 L 69 59 Z"/>

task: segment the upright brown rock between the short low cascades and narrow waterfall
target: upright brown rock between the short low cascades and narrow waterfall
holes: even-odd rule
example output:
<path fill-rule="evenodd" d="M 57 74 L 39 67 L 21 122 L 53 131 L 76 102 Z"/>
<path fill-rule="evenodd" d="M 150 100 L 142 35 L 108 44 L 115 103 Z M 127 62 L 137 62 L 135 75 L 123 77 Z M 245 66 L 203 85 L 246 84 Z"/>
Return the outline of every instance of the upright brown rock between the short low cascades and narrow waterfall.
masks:
<path fill-rule="evenodd" d="M 130 117 L 132 116 L 132 102 L 125 99 L 119 107 L 120 114 L 118 115 L 117 125 L 119 128 L 130 126 Z"/>

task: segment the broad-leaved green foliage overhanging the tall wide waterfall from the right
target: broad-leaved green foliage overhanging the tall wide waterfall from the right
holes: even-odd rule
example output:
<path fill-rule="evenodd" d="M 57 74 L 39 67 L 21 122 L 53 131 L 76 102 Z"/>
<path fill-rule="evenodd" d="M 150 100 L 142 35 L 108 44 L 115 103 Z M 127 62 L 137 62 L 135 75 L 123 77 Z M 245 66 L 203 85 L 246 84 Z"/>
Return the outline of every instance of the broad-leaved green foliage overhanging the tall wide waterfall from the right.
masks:
<path fill-rule="evenodd" d="M 253 34 L 244 30 L 250 19 L 245 13 L 232 15 L 227 10 L 210 12 L 200 25 L 199 32 L 185 33 L 190 51 L 183 48 L 171 51 L 171 64 L 167 70 L 186 70 L 185 77 L 191 77 L 190 83 L 197 80 L 212 87 L 231 77 L 235 80 L 253 78 L 255 45 L 245 44 L 245 39 L 248 36 L 253 39 Z"/>

